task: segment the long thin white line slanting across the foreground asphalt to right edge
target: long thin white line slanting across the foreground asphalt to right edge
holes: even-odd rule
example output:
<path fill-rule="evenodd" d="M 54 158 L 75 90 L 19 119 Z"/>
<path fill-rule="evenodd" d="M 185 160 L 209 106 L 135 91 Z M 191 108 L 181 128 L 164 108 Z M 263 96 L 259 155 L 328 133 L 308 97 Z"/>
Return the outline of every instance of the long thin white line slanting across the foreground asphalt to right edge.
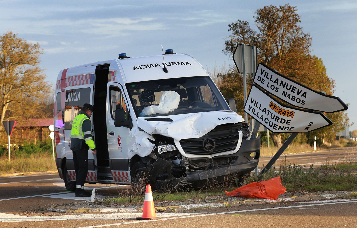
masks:
<path fill-rule="evenodd" d="M 311 207 L 311 206 L 318 206 L 318 205 L 327 205 L 327 204 L 336 204 L 336 203 L 353 203 L 353 202 L 357 202 L 357 200 L 356 199 L 351 199 L 351 200 L 348 200 L 348 201 L 345 201 L 345 202 L 318 203 L 318 204 L 307 204 L 307 205 L 286 206 L 286 207 L 271 207 L 271 208 L 250 209 L 250 210 L 242 210 L 242 211 L 228 211 L 228 212 L 220 212 L 220 213 L 212 213 L 212 214 L 196 214 L 196 215 L 181 216 L 181 217 L 162 218 L 162 219 L 160 219 L 160 221 L 169 220 L 169 219 L 178 219 L 178 218 L 212 216 L 212 215 L 217 215 L 217 214 L 231 214 L 231 213 L 241 213 L 241 212 L 249 212 L 249 211 L 264 211 L 264 210 L 283 209 L 283 208 Z M 161 216 L 161 214 L 160 214 L 160 216 Z M 138 220 L 138 221 L 132 221 L 132 222 L 102 224 L 102 225 L 99 225 L 99 226 L 77 227 L 77 228 L 108 227 L 108 226 L 118 226 L 118 225 L 123 225 L 123 224 L 140 223 L 140 222 L 154 222 L 154 221 L 157 221 L 157 220 Z"/>

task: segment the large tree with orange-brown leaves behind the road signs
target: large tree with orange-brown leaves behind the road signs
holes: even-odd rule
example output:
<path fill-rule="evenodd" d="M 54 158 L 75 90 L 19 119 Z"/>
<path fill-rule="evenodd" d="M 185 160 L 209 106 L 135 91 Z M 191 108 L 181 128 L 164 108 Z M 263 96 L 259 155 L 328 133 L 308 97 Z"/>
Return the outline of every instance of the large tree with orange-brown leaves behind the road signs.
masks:
<path fill-rule="evenodd" d="M 301 21 L 296 11 L 297 8 L 289 4 L 270 5 L 258 9 L 254 16 L 258 31 L 252 29 L 247 21 L 232 22 L 228 25 L 230 35 L 222 51 L 226 55 L 231 55 L 237 44 L 255 45 L 258 62 L 263 62 L 281 74 L 314 90 L 325 91 L 332 95 L 335 82 L 327 76 L 322 60 L 310 54 L 312 39 L 310 34 L 304 33 L 300 27 Z M 235 98 L 237 110 L 240 110 L 238 112 L 242 115 L 244 104 L 240 102 L 243 100 L 241 74 L 232 69 L 226 75 L 219 76 L 222 80 L 221 92 L 224 96 Z M 248 77 L 247 83 L 252 83 L 251 76 Z M 321 137 L 331 139 L 335 132 L 343 129 L 348 118 L 345 112 L 328 113 L 327 116 L 334 119 L 331 119 L 335 121 L 334 125 L 318 131 Z M 272 133 L 271 137 L 275 146 L 282 145 L 282 134 Z"/>

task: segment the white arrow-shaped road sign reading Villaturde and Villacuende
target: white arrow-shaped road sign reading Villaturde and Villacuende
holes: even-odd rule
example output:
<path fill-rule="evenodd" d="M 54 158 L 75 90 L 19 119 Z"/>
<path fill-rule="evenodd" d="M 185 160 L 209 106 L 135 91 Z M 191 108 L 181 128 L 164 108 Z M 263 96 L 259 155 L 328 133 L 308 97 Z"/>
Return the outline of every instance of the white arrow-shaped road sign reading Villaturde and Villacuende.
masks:
<path fill-rule="evenodd" d="M 284 106 L 253 85 L 244 111 L 275 133 L 309 132 L 332 124 L 321 112 Z"/>

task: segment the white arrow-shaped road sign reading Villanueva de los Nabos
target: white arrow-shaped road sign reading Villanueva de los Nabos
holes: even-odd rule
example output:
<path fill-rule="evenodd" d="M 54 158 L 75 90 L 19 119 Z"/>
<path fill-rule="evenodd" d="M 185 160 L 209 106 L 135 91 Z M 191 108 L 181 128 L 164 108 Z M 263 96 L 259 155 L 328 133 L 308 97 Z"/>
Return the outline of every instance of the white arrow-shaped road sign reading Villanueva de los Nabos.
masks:
<path fill-rule="evenodd" d="M 262 63 L 258 64 L 253 81 L 267 92 L 297 107 L 329 113 L 348 108 L 340 98 L 317 92 Z"/>

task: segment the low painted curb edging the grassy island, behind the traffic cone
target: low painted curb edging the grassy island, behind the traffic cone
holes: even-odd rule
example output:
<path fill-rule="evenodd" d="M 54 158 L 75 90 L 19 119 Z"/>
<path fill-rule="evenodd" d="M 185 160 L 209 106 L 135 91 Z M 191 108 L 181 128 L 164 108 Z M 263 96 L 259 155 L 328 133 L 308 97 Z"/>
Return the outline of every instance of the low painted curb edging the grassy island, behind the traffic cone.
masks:
<path fill-rule="evenodd" d="M 183 204 L 183 205 L 172 205 L 164 207 L 155 207 L 157 212 L 179 212 L 187 211 L 192 209 L 202 209 L 202 208 L 215 208 L 215 207 L 236 207 L 241 205 L 252 205 L 252 204 L 262 204 L 262 203 L 281 203 L 281 202 L 302 202 L 302 201 L 316 201 L 316 200 L 328 200 L 335 198 L 343 198 L 351 196 L 352 194 L 357 194 L 357 192 L 338 192 L 331 194 L 321 194 L 321 195 L 310 195 L 310 196 L 290 196 L 278 198 L 276 200 L 272 199 L 247 199 L 239 197 L 239 201 L 227 201 L 227 202 L 217 202 L 217 203 L 198 203 L 198 204 Z M 52 212 L 66 212 L 66 213 L 96 213 L 96 212 L 111 212 L 111 213 L 141 213 L 142 207 L 140 208 L 117 208 L 117 207 L 102 207 L 102 208 L 65 208 L 65 207 L 50 207 L 47 210 Z"/>

